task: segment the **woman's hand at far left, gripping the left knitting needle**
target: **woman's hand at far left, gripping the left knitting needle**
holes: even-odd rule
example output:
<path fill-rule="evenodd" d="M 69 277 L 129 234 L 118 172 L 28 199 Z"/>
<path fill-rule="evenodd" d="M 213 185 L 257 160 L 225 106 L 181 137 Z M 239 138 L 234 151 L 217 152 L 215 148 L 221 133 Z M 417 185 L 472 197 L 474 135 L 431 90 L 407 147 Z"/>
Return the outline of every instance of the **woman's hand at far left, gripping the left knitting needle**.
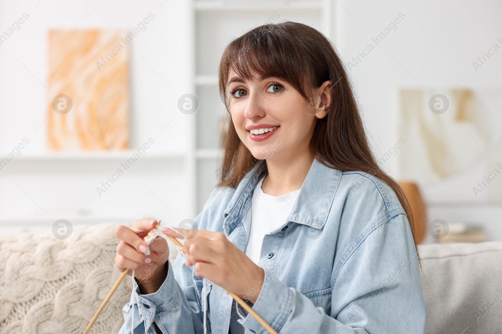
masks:
<path fill-rule="evenodd" d="M 150 243 L 150 255 L 144 254 L 147 244 L 143 238 L 156 224 L 155 219 L 146 218 L 135 221 L 131 228 L 120 225 L 115 229 L 115 236 L 120 239 L 115 264 L 120 271 L 131 269 L 128 275 L 135 269 L 140 289 L 146 293 L 157 291 L 167 276 L 165 263 L 169 258 L 169 246 L 164 238 L 155 238 Z"/>

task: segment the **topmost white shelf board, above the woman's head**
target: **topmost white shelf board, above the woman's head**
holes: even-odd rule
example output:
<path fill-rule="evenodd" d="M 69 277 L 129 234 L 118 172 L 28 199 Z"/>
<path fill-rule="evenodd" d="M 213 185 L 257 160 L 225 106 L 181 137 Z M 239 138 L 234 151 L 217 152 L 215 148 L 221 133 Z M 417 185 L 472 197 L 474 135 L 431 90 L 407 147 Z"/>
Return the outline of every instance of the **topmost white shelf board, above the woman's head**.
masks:
<path fill-rule="evenodd" d="M 301 9 L 318 9 L 320 10 L 323 5 L 322 1 L 317 0 L 286 0 L 270 2 L 254 2 L 254 3 L 234 3 L 227 1 L 195 1 L 196 11 L 248 11 L 248 10 L 301 10 Z M 287 7 L 286 7 L 287 6 Z"/>

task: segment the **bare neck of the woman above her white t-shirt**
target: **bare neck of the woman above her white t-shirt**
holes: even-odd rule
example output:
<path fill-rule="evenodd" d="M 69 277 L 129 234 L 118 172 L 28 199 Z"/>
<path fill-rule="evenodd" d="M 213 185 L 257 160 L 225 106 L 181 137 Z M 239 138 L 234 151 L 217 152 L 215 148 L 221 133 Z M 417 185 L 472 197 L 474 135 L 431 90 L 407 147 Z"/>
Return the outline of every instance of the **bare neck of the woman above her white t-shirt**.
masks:
<path fill-rule="evenodd" d="M 295 152 L 289 157 L 274 157 L 267 159 L 268 175 L 262 183 L 264 193 L 272 196 L 282 196 L 302 187 L 307 177 L 314 155 L 310 149 L 303 154 Z"/>

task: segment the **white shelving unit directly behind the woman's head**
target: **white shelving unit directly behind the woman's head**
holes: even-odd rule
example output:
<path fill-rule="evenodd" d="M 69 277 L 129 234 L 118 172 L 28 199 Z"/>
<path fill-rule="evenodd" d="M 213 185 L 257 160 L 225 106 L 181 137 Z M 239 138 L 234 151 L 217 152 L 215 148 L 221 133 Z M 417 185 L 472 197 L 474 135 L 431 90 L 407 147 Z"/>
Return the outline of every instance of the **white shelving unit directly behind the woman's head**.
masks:
<path fill-rule="evenodd" d="M 278 22 L 307 24 L 334 42 L 335 11 L 332 0 L 287 0 L 274 3 L 255 1 L 198 0 L 193 2 L 195 77 L 193 79 L 199 109 L 195 121 L 195 180 L 197 212 L 217 183 L 217 160 L 221 126 L 226 110 L 218 92 L 218 65 L 228 43 L 245 32 L 261 26 L 270 18 Z"/>

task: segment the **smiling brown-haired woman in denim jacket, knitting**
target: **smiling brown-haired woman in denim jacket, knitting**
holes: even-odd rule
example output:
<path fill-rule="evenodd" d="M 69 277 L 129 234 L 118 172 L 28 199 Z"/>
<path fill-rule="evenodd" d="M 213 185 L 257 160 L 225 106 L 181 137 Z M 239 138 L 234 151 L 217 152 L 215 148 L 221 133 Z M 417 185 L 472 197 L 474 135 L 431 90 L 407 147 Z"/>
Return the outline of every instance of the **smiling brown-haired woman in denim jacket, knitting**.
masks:
<path fill-rule="evenodd" d="M 209 333 L 265 332 L 228 290 L 279 333 L 422 333 L 410 206 L 329 41 L 299 23 L 255 28 L 227 46 L 219 80 L 221 182 L 185 231 L 187 259 L 166 262 L 161 238 L 144 254 L 153 219 L 116 230 L 116 265 L 141 280 L 121 332 L 134 305 L 135 333 L 202 333 L 206 303 Z"/>

